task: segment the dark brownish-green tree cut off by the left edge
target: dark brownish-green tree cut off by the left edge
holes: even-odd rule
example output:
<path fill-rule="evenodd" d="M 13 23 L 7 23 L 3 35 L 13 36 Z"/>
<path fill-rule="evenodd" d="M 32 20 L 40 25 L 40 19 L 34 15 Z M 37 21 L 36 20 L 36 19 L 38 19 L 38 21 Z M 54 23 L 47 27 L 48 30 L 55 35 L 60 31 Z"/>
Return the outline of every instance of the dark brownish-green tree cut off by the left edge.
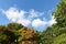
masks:
<path fill-rule="evenodd" d="M 6 35 L 7 29 L 3 25 L 0 25 L 0 44 L 7 44 L 8 43 L 8 36 Z"/>

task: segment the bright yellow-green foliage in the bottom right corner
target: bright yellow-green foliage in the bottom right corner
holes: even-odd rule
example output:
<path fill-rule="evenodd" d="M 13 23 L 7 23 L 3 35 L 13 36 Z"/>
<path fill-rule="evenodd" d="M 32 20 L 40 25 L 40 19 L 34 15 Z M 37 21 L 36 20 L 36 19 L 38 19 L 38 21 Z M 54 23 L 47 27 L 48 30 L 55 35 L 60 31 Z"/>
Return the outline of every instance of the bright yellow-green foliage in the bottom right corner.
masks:
<path fill-rule="evenodd" d="M 53 44 L 66 44 L 66 33 L 63 33 L 62 35 L 55 37 Z"/>

